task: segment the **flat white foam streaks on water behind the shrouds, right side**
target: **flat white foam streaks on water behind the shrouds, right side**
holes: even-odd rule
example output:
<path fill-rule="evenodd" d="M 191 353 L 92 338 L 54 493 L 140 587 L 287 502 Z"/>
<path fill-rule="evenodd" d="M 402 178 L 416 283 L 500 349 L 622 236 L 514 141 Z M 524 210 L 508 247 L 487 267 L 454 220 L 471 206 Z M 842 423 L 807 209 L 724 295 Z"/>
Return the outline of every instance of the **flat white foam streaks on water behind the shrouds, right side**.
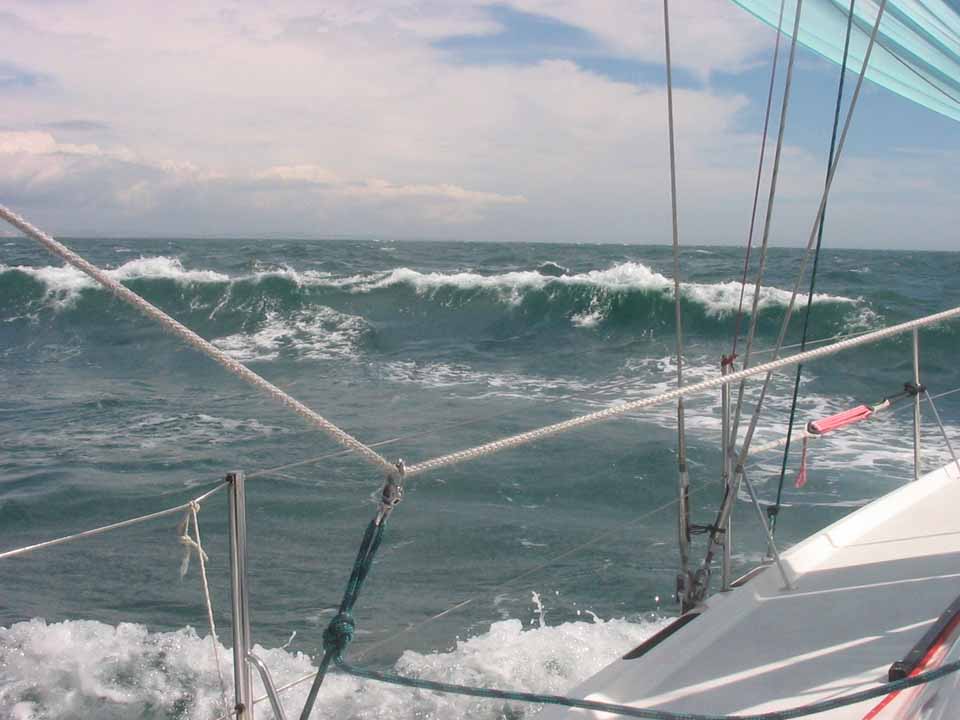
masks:
<path fill-rule="evenodd" d="M 672 356 L 633 358 L 627 360 L 619 371 L 611 376 L 586 381 L 576 377 L 554 375 L 550 377 L 525 373 L 497 373 L 478 370 L 466 364 L 394 362 L 385 366 L 384 373 L 392 382 L 414 383 L 432 389 L 445 390 L 461 399 L 501 397 L 515 400 L 552 400 L 568 395 L 568 408 L 574 412 L 602 409 L 631 400 L 659 395 L 672 390 L 676 384 L 676 365 Z M 693 384 L 712 378 L 718 373 L 717 364 L 710 358 L 687 357 L 684 362 L 684 381 Z M 795 433 L 808 420 L 827 417 L 855 407 L 862 402 L 882 399 L 890 388 L 877 388 L 875 398 L 857 398 L 837 394 L 823 396 L 811 391 L 816 380 L 815 369 L 805 371 L 801 383 Z M 760 382 L 748 385 L 744 400 L 744 420 L 740 434 L 743 435 L 757 399 Z M 776 374 L 771 380 L 770 391 L 764 401 L 765 411 L 754 437 L 754 447 L 778 440 L 786 435 L 787 418 L 793 394 L 793 377 Z M 703 442 L 713 446 L 720 436 L 719 391 L 713 396 L 692 397 L 687 401 L 692 408 L 686 416 L 687 432 L 691 442 Z M 642 423 L 662 428 L 676 427 L 676 406 L 662 404 L 646 408 L 631 417 Z M 900 483 L 912 476 L 912 430 L 909 412 L 881 413 L 875 419 L 830 433 L 810 447 L 811 485 L 821 488 L 836 488 L 845 482 L 851 471 L 861 471 L 864 476 L 882 477 L 891 483 Z M 933 428 L 927 428 L 932 433 Z M 951 436 L 960 434 L 960 428 L 947 425 Z M 796 437 L 796 435 L 794 435 Z M 930 467 L 949 462 L 950 456 L 942 438 L 931 435 L 925 442 L 924 453 L 928 454 Z M 751 456 L 752 476 L 758 484 L 767 477 L 779 477 L 782 448 Z M 792 455 L 790 473 L 796 471 L 799 448 Z M 816 482 L 814 482 L 816 481 Z"/>

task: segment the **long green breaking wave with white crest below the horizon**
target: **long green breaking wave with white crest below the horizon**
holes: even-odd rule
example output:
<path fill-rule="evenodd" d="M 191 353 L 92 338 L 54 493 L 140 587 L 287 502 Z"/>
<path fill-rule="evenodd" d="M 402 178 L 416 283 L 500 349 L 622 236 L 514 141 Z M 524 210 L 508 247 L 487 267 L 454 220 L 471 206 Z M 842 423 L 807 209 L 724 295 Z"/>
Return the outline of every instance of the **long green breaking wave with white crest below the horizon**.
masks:
<path fill-rule="evenodd" d="M 510 333 L 558 326 L 581 331 L 669 330 L 673 282 L 639 262 L 570 273 L 555 263 L 536 270 L 498 274 L 420 272 L 400 267 L 337 275 L 289 267 L 229 276 L 185 268 L 171 257 L 130 260 L 109 270 L 147 299 L 190 323 L 244 360 L 273 360 L 285 349 L 308 359 L 355 355 L 369 323 L 403 316 L 405 332 L 447 323 L 445 332 Z M 737 281 L 687 282 L 682 289 L 685 321 L 692 330 L 727 334 L 740 301 Z M 776 327 L 791 293 L 760 290 L 761 332 Z M 818 293 L 816 322 L 822 332 L 862 329 L 876 317 L 862 300 Z M 752 303 L 747 287 L 745 307 Z M 798 297 L 798 306 L 806 296 Z M 71 268 L 0 265 L 0 304 L 6 321 L 44 313 L 95 321 L 116 313 L 109 296 Z"/>

